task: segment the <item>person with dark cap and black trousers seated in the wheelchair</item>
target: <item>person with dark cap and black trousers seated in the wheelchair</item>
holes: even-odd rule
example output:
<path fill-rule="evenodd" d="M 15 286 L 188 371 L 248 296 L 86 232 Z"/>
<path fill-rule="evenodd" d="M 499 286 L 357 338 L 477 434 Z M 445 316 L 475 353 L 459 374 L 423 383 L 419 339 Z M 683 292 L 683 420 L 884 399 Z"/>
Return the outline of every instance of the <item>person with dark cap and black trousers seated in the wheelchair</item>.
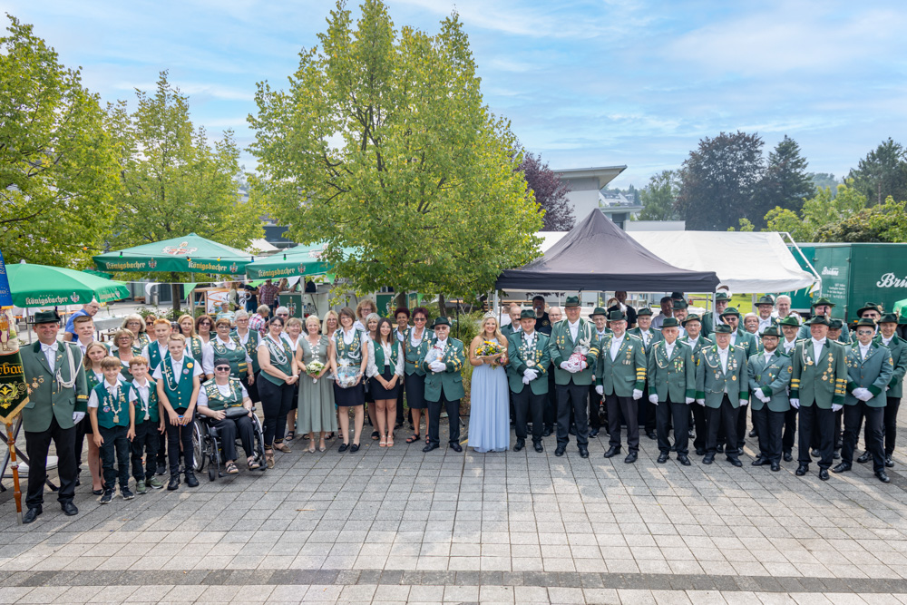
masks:
<path fill-rule="evenodd" d="M 199 414 L 209 419 L 217 429 L 220 447 L 223 450 L 227 473 L 239 473 L 236 466 L 236 437 L 246 452 L 249 470 L 258 468 L 255 460 L 255 430 L 252 426 L 252 400 L 239 378 L 229 376 L 229 360 L 222 357 L 214 360 L 214 378 L 201 385 L 199 391 Z M 238 408 L 246 410 L 243 414 Z"/>

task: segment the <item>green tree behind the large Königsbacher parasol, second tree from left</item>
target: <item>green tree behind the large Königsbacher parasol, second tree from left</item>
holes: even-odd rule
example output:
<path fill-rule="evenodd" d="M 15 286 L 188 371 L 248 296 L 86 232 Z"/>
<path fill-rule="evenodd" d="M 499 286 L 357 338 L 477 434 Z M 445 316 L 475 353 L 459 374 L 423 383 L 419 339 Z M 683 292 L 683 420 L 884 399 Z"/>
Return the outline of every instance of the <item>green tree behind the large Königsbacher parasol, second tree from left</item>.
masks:
<path fill-rule="evenodd" d="M 239 249 L 263 233 L 264 200 L 252 191 L 249 202 L 239 195 L 239 147 L 233 133 L 208 140 L 194 128 L 189 98 L 161 72 L 153 95 L 136 90 L 138 106 L 125 102 L 109 107 L 111 132 L 122 146 L 122 212 L 116 217 L 111 249 L 176 238 L 189 233 Z M 171 282 L 187 279 L 166 274 Z M 180 308 L 173 286 L 173 308 Z"/>

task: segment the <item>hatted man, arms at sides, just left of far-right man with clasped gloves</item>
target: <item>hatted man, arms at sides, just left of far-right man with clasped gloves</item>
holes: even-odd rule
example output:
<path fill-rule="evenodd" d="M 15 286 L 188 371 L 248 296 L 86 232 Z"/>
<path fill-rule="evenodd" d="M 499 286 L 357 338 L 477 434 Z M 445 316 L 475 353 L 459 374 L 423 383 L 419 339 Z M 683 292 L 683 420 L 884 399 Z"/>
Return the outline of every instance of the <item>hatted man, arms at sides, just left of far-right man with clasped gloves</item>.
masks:
<path fill-rule="evenodd" d="M 847 352 L 828 339 L 828 320 L 821 315 L 806 322 L 810 337 L 798 340 L 791 356 L 790 402 L 800 415 L 799 466 L 796 475 L 809 472 L 809 445 L 815 427 L 818 439 L 819 479 L 828 481 L 834 453 L 834 413 L 844 406 Z"/>

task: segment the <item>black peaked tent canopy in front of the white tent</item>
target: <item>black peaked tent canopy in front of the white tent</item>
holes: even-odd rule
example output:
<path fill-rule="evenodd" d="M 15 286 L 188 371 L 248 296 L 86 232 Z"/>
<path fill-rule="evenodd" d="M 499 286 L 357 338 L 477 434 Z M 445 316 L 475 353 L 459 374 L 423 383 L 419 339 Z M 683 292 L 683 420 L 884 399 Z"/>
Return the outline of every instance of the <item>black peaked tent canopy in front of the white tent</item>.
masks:
<path fill-rule="evenodd" d="M 592 210 L 541 259 L 506 269 L 500 290 L 628 290 L 630 292 L 714 292 L 712 271 L 677 268 L 643 248 L 623 229 Z"/>

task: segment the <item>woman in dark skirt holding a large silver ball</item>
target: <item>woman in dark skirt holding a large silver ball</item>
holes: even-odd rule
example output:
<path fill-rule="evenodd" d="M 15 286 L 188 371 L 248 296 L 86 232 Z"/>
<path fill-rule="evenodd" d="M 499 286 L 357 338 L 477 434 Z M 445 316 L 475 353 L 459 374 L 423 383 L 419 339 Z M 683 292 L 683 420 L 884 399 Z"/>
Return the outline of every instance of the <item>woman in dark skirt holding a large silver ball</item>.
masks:
<path fill-rule="evenodd" d="M 353 326 L 356 315 L 350 307 L 340 309 L 340 328 L 331 338 L 331 348 L 327 354 L 330 360 L 331 373 L 334 375 L 334 400 L 340 413 L 340 430 L 343 431 L 343 443 L 337 448 L 341 454 L 349 450 L 359 451 L 359 437 L 362 436 L 363 407 L 366 405 L 366 393 L 362 378 L 368 364 L 368 347 L 363 333 Z M 346 377 L 352 384 L 342 386 Z M 349 408 L 354 409 L 355 439 L 349 444 Z"/>

